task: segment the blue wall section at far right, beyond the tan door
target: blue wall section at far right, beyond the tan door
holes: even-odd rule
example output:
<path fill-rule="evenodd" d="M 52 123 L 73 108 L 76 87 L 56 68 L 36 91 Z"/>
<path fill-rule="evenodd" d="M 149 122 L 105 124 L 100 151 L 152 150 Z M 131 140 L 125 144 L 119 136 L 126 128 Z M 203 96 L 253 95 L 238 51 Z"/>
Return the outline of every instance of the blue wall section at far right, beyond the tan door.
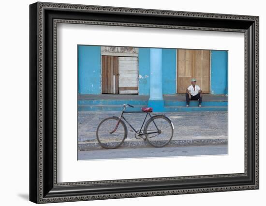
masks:
<path fill-rule="evenodd" d="M 227 94 L 227 51 L 211 51 L 211 94 Z"/>

